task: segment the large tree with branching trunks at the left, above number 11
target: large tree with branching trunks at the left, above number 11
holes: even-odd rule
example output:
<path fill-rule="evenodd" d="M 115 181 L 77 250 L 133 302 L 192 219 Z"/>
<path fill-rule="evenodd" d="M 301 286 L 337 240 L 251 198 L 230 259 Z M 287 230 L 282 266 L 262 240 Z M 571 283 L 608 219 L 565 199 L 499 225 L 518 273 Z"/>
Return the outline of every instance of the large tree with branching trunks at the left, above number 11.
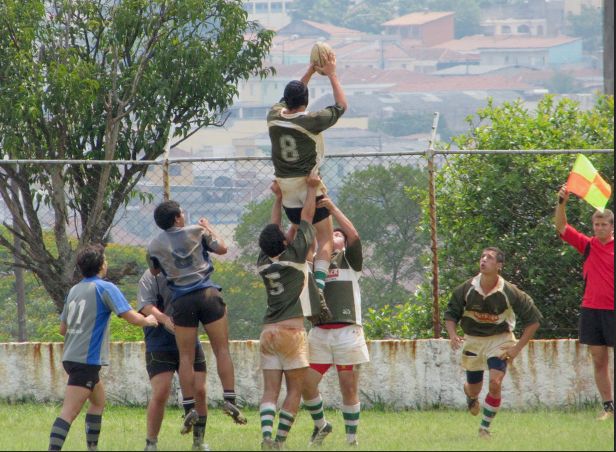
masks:
<path fill-rule="evenodd" d="M 4 0 L 0 157 L 156 159 L 170 138 L 224 123 L 238 83 L 270 73 L 271 40 L 241 0 Z M 10 235 L 23 240 L 19 257 L 58 310 L 76 249 L 104 239 L 145 171 L 2 165 L 0 195 L 16 226 L 0 245 L 14 252 Z M 41 206 L 55 215 L 53 243 L 43 240 Z"/>

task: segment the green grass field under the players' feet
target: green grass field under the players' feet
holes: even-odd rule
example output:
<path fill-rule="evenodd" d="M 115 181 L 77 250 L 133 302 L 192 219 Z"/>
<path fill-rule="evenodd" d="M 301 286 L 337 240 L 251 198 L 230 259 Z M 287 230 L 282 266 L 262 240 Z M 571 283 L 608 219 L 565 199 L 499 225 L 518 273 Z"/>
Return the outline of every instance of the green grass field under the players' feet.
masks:
<path fill-rule="evenodd" d="M 60 411 L 56 405 L 0 403 L 0 450 L 46 450 L 49 429 Z M 503 410 L 493 423 L 492 438 L 477 437 L 479 417 L 464 411 L 376 411 L 361 414 L 360 450 L 614 450 L 614 422 L 595 421 L 597 410 Z M 219 409 L 208 417 L 207 442 L 212 450 L 259 450 L 259 416 L 247 410 L 248 425 L 236 426 Z M 334 425 L 322 450 L 349 450 L 342 415 L 327 411 Z M 190 450 L 192 439 L 179 434 L 180 411 L 167 410 L 159 450 Z M 302 411 L 287 446 L 305 450 L 312 431 Z M 100 450 L 143 450 L 145 410 L 109 406 L 103 417 Z M 73 424 L 65 450 L 85 450 L 84 415 Z"/>

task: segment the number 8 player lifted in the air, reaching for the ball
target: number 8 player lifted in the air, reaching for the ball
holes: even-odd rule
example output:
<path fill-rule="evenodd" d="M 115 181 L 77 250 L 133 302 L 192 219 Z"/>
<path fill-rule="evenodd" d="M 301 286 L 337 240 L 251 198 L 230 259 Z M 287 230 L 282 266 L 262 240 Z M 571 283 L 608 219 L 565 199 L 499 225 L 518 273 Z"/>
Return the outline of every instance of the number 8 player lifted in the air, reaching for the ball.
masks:
<path fill-rule="evenodd" d="M 298 225 L 306 199 L 306 177 L 323 163 L 324 145 L 321 132 L 332 127 L 347 109 L 342 86 L 336 76 L 336 57 L 318 68 L 329 78 L 335 104 L 316 112 L 308 112 L 308 82 L 316 72 L 311 64 L 301 80 L 289 82 L 282 100 L 267 115 L 272 142 L 272 161 L 276 180 L 282 190 L 282 205 L 289 220 Z M 325 186 L 317 189 L 317 199 L 325 193 Z M 318 208 L 313 218 L 317 232 L 317 255 L 314 276 L 322 292 L 333 251 L 333 225 L 326 208 Z"/>

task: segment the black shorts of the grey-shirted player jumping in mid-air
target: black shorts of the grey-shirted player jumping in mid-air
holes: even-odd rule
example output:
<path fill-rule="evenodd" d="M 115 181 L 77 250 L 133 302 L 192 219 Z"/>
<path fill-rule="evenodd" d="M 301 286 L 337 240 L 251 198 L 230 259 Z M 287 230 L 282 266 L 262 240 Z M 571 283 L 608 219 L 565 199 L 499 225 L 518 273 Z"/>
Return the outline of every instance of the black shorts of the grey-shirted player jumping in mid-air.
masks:
<path fill-rule="evenodd" d="M 214 287 L 196 290 L 173 302 L 173 323 L 177 326 L 196 328 L 220 320 L 225 316 L 226 305 L 220 291 Z"/>

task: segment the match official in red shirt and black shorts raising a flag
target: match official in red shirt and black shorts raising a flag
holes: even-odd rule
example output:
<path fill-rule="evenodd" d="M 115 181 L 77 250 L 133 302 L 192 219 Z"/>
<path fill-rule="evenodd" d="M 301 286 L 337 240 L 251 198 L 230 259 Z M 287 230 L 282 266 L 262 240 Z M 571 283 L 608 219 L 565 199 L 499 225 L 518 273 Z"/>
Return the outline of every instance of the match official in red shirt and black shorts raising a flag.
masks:
<path fill-rule="evenodd" d="M 580 316 L 580 343 L 590 346 L 595 382 L 603 400 L 598 420 L 614 417 L 609 349 L 614 348 L 614 213 L 605 209 L 592 216 L 594 237 L 567 223 L 567 185 L 558 193 L 554 223 L 560 238 L 584 256 L 584 298 Z"/>

